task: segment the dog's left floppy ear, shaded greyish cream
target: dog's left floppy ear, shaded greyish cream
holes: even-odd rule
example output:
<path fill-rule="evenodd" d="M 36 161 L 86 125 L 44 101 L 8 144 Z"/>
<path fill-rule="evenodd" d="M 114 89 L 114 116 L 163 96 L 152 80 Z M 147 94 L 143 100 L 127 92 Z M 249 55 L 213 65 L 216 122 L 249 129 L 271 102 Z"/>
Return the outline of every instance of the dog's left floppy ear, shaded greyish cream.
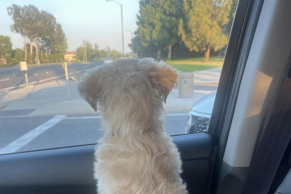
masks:
<path fill-rule="evenodd" d="M 86 100 L 91 107 L 97 112 L 97 102 L 99 98 L 99 76 L 95 71 L 84 74 L 78 82 L 78 91 L 81 97 Z"/>

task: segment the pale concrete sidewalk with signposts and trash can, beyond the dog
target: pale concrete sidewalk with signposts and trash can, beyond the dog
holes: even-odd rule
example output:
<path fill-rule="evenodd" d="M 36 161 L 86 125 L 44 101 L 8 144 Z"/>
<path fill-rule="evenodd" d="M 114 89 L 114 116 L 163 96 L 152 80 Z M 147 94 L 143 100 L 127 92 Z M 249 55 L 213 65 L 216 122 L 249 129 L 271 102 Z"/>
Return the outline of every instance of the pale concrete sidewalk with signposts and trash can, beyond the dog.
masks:
<path fill-rule="evenodd" d="M 221 69 L 220 69 L 221 71 Z M 219 68 L 209 69 L 194 73 L 195 84 L 217 83 Z M 208 80 L 208 82 L 207 82 Z M 76 82 L 69 81 L 70 95 L 65 80 L 51 81 L 30 87 L 32 97 L 27 97 L 27 88 L 19 88 L 0 93 L 0 117 L 7 116 L 43 116 L 58 114 L 92 114 L 94 110 L 85 102 L 77 92 Z M 207 87 L 205 87 L 207 88 Z M 165 110 L 167 112 L 185 112 L 191 109 L 193 104 L 211 93 L 213 90 L 203 88 L 193 90 L 194 97 L 181 99 L 178 97 L 178 88 L 174 88 L 167 98 Z M 23 113 L 20 110 L 23 110 Z"/>

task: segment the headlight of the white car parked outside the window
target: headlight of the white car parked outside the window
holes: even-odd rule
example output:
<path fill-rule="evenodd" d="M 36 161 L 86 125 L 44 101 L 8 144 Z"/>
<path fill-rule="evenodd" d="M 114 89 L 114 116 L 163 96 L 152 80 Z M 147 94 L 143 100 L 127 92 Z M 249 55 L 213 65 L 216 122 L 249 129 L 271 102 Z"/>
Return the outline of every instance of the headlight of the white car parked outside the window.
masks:
<path fill-rule="evenodd" d="M 189 115 L 185 133 L 207 132 L 210 118 Z"/>

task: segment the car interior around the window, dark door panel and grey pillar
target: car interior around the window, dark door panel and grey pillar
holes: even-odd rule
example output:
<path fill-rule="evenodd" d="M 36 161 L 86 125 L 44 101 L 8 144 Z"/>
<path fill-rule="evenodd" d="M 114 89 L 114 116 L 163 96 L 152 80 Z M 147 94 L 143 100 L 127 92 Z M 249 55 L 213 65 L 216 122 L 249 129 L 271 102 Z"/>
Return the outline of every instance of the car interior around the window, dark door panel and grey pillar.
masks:
<path fill-rule="evenodd" d="M 290 8 L 238 1 L 208 132 L 173 136 L 190 194 L 291 194 Z M 96 193 L 94 148 L 2 154 L 0 193 Z"/>

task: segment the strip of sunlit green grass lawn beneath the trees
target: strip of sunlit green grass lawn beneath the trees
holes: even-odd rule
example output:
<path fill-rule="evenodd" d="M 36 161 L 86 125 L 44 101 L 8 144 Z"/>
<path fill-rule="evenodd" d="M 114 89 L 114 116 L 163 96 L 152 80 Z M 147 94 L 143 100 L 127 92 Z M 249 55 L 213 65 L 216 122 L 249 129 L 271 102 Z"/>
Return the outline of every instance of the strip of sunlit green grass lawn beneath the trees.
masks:
<path fill-rule="evenodd" d="M 204 62 L 204 58 L 189 58 L 165 62 L 181 72 L 194 72 L 221 67 L 223 58 L 211 57 L 207 63 Z"/>

